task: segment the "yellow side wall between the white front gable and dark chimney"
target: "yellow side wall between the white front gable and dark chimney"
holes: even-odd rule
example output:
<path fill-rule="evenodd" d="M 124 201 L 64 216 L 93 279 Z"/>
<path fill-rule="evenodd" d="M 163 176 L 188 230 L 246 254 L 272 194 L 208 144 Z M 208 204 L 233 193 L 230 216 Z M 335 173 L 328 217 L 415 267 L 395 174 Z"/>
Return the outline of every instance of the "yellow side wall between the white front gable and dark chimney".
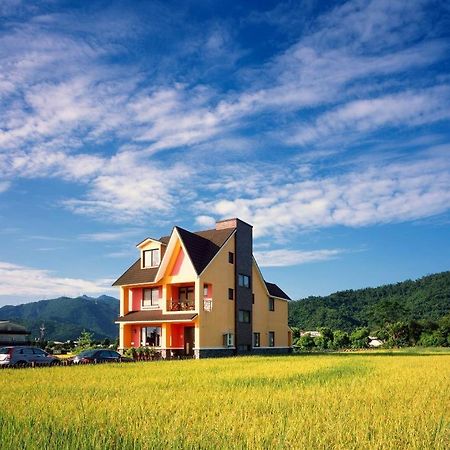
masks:
<path fill-rule="evenodd" d="M 234 264 L 228 262 L 228 252 L 234 253 L 233 234 L 200 276 L 199 338 L 201 348 L 220 348 L 223 335 L 235 333 L 235 300 L 228 300 L 228 289 L 235 289 Z M 212 285 L 212 310 L 204 310 L 203 285 Z M 236 294 L 236 292 L 235 292 Z"/>

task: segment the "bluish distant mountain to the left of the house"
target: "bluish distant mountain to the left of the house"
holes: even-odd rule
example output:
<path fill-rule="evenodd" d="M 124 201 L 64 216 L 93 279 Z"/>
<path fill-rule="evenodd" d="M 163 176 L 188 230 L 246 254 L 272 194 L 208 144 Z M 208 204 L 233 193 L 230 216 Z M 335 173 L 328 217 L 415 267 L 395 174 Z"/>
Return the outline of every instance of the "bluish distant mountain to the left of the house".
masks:
<path fill-rule="evenodd" d="M 96 339 L 116 339 L 118 327 L 114 321 L 118 315 L 119 300 L 107 295 L 59 297 L 0 308 L 0 320 L 24 325 L 33 338 L 39 336 L 44 324 L 45 339 L 53 341 L 76 339 L 83 330 L 93 333 Z"/>

